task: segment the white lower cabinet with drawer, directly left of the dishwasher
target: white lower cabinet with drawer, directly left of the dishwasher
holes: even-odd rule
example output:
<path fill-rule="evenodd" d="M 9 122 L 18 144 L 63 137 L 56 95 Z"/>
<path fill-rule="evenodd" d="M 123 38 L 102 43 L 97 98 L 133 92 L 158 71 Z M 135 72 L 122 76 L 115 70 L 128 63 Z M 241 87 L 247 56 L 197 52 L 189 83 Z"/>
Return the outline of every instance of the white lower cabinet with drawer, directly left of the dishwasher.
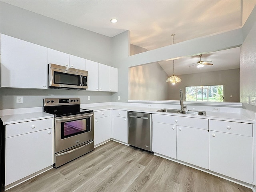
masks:
<path fill-rule="evenodd" d="M 128 143 L 127 111 L 112 110 L 113 139 Z"/>

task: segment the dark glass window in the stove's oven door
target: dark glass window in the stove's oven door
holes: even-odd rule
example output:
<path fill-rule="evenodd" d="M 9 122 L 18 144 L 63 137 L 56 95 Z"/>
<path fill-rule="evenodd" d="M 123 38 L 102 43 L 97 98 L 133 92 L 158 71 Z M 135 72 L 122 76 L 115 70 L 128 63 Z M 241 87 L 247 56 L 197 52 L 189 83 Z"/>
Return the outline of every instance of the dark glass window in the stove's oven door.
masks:
<path fill-rule="evenodd" d="M 90 118 L 61 123 L 61 138 L 68 138 L 91 130 Z"/>

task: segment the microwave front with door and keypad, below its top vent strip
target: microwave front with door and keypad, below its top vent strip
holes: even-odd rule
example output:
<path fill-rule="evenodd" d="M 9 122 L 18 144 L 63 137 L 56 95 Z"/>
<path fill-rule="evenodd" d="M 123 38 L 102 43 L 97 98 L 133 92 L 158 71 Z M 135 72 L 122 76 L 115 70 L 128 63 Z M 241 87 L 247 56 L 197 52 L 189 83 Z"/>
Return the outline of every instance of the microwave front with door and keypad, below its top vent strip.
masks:
<path fill-rule="evenodd" d="M 79 72 L 49 68 L 49 88 L 86 89 L 87 75 Z"/>

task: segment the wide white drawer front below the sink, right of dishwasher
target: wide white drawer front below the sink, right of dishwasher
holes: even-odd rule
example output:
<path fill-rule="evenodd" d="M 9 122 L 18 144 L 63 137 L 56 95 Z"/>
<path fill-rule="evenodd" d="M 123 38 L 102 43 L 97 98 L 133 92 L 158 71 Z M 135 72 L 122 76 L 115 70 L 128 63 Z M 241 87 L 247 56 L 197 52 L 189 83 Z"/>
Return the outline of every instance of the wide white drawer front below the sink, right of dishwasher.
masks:
<path fill-rule="evenodd" d="M 153 122 L 208 130 L 208 119 L 153 114 L 152 120 Z"/>

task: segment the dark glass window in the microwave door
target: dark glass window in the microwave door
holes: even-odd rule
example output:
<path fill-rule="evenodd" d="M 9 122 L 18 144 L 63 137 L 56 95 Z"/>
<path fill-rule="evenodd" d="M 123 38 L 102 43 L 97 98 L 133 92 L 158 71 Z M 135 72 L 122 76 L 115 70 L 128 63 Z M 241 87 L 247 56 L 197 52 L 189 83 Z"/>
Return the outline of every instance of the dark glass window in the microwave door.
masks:
<path fill-rule="evenodd" d="M 54 83 L 65 85 L 80 85 L 80 75 L 54 71 Z"/>

